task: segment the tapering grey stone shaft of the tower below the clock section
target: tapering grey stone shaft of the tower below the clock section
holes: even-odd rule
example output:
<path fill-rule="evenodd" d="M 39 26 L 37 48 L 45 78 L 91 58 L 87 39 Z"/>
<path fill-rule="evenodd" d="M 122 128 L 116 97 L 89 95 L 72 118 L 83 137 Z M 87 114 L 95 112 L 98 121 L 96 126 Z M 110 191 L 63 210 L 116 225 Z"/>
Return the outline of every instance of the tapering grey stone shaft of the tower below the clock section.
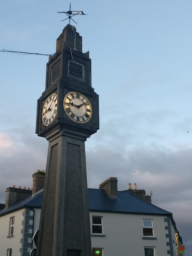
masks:
<path fill-rule="evenodd" d="M 54 130 L 49 141 L 37 256 L 91 256 L 84 142 L 88 136 Z"/>

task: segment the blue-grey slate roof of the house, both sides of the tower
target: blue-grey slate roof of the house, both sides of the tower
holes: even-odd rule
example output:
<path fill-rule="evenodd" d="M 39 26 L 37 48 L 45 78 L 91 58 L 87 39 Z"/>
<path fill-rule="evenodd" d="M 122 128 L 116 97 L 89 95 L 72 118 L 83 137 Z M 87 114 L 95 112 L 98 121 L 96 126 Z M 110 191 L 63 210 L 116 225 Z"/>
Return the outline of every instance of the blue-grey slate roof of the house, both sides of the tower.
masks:
<path fill-rule="evenodd" d="M 21 208 L 40 208 L 43 192 L 24 198 L 20 202 L 0 211 L 0 215 Z M 137 214 L 171 214 L 153 204 L 150 204 L 128 192 L 118 191 L 118 198 L 110 198 L 104 190 L 88 188 L 89 210 L 98 212 L 122 212 Z"/>

